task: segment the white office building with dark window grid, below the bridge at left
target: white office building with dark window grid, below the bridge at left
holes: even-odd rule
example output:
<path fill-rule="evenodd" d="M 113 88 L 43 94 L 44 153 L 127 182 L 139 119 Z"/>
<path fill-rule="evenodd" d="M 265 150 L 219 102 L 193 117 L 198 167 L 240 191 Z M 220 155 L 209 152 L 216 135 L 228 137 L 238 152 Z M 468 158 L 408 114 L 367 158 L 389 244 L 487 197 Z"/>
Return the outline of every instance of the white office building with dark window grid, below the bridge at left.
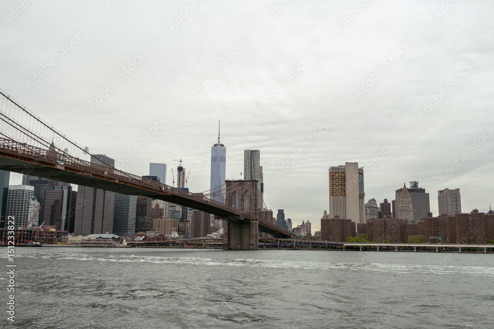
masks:
<path fill-rule="evenodd" d="M 14 217 L 15 228 L 24 227 L 31 218 L 31 200 L 34 195 L 34 187 L 29 185 L 8 186 L 7 207 L 5 216 Z"/>

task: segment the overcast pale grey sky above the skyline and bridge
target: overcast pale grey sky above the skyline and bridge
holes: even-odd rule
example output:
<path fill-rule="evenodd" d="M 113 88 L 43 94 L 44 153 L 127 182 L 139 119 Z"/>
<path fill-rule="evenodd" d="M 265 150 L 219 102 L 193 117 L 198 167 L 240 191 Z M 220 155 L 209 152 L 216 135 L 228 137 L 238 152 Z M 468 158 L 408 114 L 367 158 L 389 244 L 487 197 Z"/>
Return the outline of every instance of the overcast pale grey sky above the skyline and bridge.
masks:
<path fill-rule="evenodd" d="M 492 0 L 285 1 L 3 0 L 0 88 L 127 172 L 181 158 L 194 192 L 221 119 L 227 179 L 259 149 L 267 207 L 313 230 L 345 162 L 366 202 L 418 180 L 434 215 L 445 187 L 487 211 Z"/>

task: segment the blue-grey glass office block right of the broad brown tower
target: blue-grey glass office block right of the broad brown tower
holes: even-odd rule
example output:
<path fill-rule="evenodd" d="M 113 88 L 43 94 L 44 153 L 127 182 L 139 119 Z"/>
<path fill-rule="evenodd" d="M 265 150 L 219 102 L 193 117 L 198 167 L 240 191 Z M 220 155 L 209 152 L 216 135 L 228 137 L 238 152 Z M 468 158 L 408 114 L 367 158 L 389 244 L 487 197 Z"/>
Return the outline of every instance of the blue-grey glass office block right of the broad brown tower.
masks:
<path fill-rule="evenodd" d="M 113 234 L 120 236 L 133 236 L 135 234 L 136 207 L 136 195 L 115 193 Z"/>

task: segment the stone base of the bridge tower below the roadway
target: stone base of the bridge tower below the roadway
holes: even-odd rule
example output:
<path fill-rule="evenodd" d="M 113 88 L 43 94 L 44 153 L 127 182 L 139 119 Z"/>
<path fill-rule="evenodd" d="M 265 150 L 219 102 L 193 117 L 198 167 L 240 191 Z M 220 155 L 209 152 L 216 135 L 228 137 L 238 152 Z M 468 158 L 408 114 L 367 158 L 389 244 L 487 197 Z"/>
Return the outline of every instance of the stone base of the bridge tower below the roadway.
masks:
<path fill-rule="evenodd" d="M 227 221 L 223 224 L 223 249 L 258 250 L 259 220 Z"/>

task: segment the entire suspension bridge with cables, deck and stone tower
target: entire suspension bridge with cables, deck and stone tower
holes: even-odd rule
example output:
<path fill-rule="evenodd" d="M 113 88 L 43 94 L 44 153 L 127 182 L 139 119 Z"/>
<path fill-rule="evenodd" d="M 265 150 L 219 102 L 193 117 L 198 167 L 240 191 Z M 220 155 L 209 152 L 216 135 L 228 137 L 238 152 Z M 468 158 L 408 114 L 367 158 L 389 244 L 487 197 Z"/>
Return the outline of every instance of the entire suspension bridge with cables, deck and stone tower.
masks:
<path fill-rule="evenodd" d="M 97 159 L 0 90 L 0 169 L 46 179 L 142 195 L 187 206 L 224 221 L 223 249 L 258 249 L 258 232 L 290 238 L 275 223 L 259 219 L 257 181 L 225 181 L 225 204 L 138 175 Z M 103 142 L 104 143 L 104 142 Z M 92 160 L 92 161 L 91 161 Z M 97 160 L 97 161 L 96 161 Z"/>

